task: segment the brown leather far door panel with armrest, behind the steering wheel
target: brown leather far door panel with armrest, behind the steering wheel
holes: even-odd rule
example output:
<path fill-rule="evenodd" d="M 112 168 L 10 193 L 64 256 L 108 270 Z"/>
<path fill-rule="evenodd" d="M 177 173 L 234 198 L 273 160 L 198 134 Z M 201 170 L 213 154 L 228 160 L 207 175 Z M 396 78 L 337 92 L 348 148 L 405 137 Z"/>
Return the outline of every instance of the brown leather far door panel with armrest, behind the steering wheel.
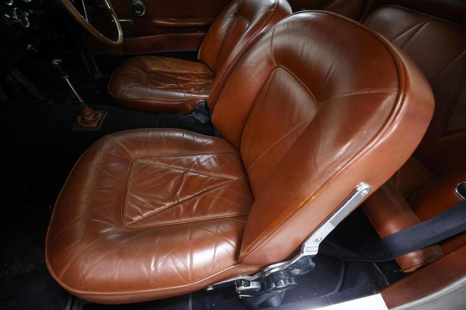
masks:
<path fill-rule="evenodd" d="M 230 0 L 141 0 L 144 16 L 137 16 L 131 0 L 111 0 L 124 31 L 123 44 L 111 47 L 88 36 L 95 54 L 129 55 L 173 50 L 197 50 L 220 11 Z M 109 20 L 92 16 L 98 29 L 112 33 Z"/>

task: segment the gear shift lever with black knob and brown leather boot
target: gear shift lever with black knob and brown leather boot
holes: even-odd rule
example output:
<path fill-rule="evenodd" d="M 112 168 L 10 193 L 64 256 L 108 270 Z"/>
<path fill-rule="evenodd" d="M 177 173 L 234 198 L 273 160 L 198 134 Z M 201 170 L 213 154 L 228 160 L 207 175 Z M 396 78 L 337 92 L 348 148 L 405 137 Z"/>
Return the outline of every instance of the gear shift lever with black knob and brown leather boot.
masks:
<path fill-rule="evenodd" d="M 71 91 L 74 93 L 76 98 L 78 98 L 79 103 L 82 107 L 81 114 L 78 116 L 76 119 L 76 123 L 73 126 L 73 131 L 93 131 L 93 130 L 99 130 L 100 125 L 102 124 L 103 118 L 105 117 L 106 112 L 101 112 L 101 111 L 95 111 L 89 108 L 87 104 L 84 102 L 83 98 L 79 96 L 78 92 L 76 91 L 76 88 L 74 88 L 73 84 L 69 81 L 67 69 L 63 65 L 62 61 L 60 59 L 54 59 L 51 62 L 52 65 L 54 65 L 58 72 L 60 73 L 62 79 L 67 81 L 69 88 L 71 88 Z"/>

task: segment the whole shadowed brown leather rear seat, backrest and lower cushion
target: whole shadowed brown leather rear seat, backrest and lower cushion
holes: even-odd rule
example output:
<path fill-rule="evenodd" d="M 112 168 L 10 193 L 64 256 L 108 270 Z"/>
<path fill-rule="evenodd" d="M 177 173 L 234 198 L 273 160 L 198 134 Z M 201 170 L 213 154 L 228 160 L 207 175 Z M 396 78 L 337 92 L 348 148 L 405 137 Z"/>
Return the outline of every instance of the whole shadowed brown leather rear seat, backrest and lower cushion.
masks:
<path fill-rule="evenodd" d="M 295 2 L 302 6 L 305 1 Z M 434 92 L 433 120 L 420 146 L 363 205 L 379 235 L 416 225 L 460 202 L 455 186 L 466 181 L 466 1 L 331 0 L 319 1 L 317 8 L 381 33 L 416 62 Z M 465 244 L 463 233 L 397 261 L 411 272 Z"/>

